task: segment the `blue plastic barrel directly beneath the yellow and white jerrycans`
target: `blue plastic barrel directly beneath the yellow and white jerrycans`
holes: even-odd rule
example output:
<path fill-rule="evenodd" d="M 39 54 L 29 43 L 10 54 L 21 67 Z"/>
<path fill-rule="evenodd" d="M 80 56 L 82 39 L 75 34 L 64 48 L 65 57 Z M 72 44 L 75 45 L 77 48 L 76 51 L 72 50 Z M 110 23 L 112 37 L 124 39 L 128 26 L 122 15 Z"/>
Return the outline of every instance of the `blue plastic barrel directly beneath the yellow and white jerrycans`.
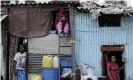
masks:
<path fill-rule="evenodd" d="M 43 80 L 59 80 L 58 69 L 43 69 L 42 71 Z"/>

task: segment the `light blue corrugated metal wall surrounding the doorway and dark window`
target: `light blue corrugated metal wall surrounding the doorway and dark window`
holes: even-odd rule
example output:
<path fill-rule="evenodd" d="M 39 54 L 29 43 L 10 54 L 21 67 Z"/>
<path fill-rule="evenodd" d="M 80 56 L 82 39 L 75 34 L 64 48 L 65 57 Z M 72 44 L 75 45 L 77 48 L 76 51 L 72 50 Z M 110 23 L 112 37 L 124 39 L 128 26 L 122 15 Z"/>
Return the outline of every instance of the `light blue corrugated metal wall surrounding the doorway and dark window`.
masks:
<path fill-rule="evenodd" d="M 101 76 L 101 45 L 125 45 L 126 80 L 133 80 L 133 18 L 122 17 L 121 27 L 99 27 L 88 13 L 76 15 L 76 57 L 77 64 L 88 63 L 96 67 Z"/>

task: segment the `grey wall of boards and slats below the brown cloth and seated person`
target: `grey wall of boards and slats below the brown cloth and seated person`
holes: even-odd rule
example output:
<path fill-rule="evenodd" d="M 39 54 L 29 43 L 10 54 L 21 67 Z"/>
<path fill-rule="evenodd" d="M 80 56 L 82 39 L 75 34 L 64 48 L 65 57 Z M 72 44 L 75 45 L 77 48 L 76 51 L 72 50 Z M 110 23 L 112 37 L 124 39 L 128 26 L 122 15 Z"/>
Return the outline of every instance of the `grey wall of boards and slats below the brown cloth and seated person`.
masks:
<path fill-rule="evenodd" d="M 29 38 L 28 80 L 31 80 L 33 75 L 41 74 L 42 57 L 44 55 L 58 56 L 59 53 L 64 55 L 71 55 L 71 47 L 67 47 L 71 46 L 70 40 L 71 37 L 59 37 L 56 34 L 49 34 L 45 37 Z"/>

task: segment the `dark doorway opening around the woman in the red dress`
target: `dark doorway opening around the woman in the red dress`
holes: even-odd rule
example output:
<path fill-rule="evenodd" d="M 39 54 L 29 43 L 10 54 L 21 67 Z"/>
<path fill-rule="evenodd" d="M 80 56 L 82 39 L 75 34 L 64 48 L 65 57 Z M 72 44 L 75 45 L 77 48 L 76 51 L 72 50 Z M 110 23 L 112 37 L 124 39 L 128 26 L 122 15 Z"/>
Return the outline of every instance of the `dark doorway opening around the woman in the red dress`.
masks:
<path fill-rule="evenodd" d="M 124 49 L 123 50 L 119 50 L 119 49 L 120 48 L 113 49 L 113 47 L 111 46 L 108 51 L 102 50 L 102 75 L 107 76 L 107 62 L 111 62 L 111 56 L 115 56 L 117 59 L 116 63 L 118 64 L 118 67 L 121 68 L 123 66 L 123 69 L 121 69 L 119 72 L 120 80 L 125 80 L 125 65 L 122 61 L 122 55 L 123 55 Z"/>

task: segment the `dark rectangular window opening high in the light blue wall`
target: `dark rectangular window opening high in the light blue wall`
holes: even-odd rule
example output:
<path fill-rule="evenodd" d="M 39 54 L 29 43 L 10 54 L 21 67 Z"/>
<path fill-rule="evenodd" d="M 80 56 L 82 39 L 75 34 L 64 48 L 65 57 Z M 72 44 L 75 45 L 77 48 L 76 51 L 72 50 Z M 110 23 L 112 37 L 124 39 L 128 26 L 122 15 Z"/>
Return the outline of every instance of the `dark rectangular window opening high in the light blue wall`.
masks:
<path fill-rule="evenodd" d="M 100 27 L 120 27 L 121 26 L 121 15 L 109 14 L 101 15 L 98 18 Z"/>

